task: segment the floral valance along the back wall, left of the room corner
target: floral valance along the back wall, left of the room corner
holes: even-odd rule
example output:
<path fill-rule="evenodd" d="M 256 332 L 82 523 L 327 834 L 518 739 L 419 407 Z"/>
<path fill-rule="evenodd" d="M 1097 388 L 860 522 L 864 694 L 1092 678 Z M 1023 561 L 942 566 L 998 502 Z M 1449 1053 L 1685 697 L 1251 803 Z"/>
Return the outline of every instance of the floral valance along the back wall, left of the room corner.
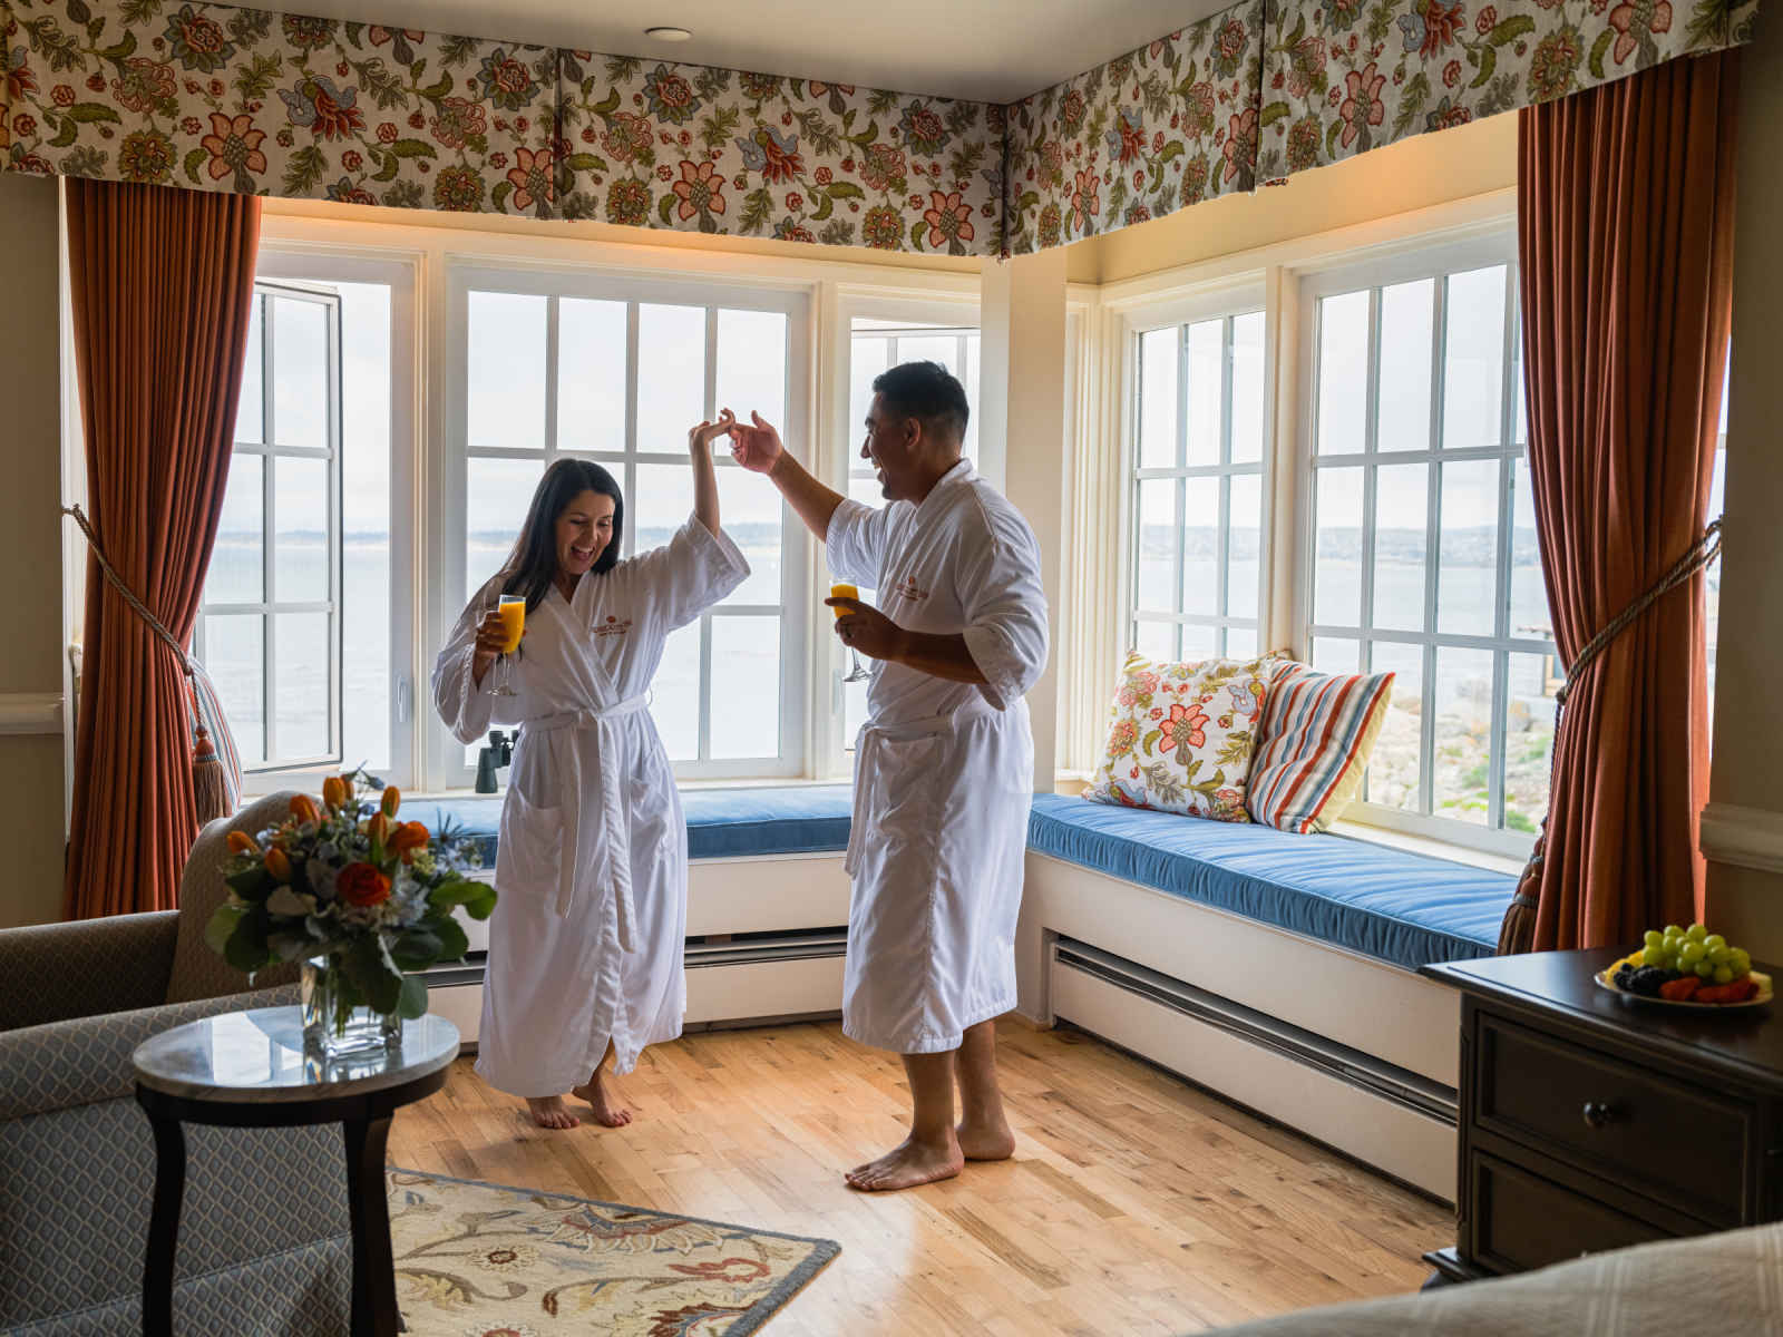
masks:
<path fill-rule="evenodd" d="M 995 255 L 1002 107 L 184 0 L 0 0 L 18 171 Z"/>

